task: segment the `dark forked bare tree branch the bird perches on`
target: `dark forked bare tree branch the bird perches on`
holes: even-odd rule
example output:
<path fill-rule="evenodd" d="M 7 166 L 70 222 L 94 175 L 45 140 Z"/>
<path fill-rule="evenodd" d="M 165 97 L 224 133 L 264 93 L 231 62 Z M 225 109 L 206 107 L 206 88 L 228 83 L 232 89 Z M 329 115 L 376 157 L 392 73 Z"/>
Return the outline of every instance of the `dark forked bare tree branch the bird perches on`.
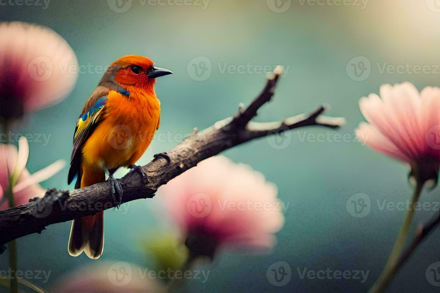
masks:
<path fill-rule="evenodd" d="M 234 117 L 221 120 L 200 132 L 194 128 L 193 134 L 166 153 L 168 157 L 157 156 L 143 166 L 146 178 L 134 171 L 122 177 L 122 203 L 152 198 L 159 186 L 200 161 L 235 145 L 298 127 L 316 125 L 337 128 L 345 123 L 344 118 L 320 116 L 327 109 L 325 105 L 310 115 L 301 114 L 279 122 L 250 122 L 257 115 L 257 110 L 270 101 L 281 73 L 282 67 L 279 66 L 268 76 L 263 91 L 246 109 L 241 105 Z M 0 211 L 0 246 L 25 235 L 41 233 L 50 224 L 92 215 L 116 205 L 107 182 L 72 191 L 49 189 L 43 198 Z"/>

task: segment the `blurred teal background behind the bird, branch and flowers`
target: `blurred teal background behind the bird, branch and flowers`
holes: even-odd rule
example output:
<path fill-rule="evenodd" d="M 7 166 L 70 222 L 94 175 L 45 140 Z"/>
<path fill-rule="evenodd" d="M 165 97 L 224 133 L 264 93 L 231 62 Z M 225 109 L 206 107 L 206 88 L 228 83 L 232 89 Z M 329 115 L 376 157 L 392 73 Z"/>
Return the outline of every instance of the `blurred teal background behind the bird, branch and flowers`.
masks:
<path fill-rule="evenodd" d="M 270 0 L 269 0 L 270 1 Z M 161 127 L 158 134 L 188 134 L 193 127 L 209 127 L 234 114 L 240 102 L 248 104 L 265 82 L 264 74 L 222 74 L 217 66 L 290 66 L 279 82 L 273 101 L 260 109 L 257 121 L 280 120 L 310 112 L 322 103 L 331 105 L 327 115 L 344 116 L 341 134 L 354 137 L 364 121 L 359 98 L 378 93 L 383 83 L 409 80 L 422 90 L 439 85 L 439 74 L 381 74 L 376 63 L 405 65 L 440 64 L 438 29 L 440 14 L 430 11 L 425 1 L 370 0 L 359 6 L 301 5 L 293 0 L 283 13 L 271 11 L 265 0 L 210 0 L 201 6 L 141 5 L 133 0 L 124 13 L 112 11 L 106 0 L 51 0 L 41 6 L 0 6 L 2 21 L 20 20 L 54 29 L 73 47 L 80 65 L 109 65 L 126 54 L 152 58 L 156 65 L 170 69 L 171 76 L 158 79 Z M 429 2 L 429 1 L 428 1 Z M 202 4 L 203 6 L 203 4 Z M 212 74 L 194 81 L 187 72 L 191 59 L 206 56 Z M 354 81 L 346 72 L 348 61 L 365 56 L 371 74 Z M 51 135 L 48 145 L 30 144 L 28 169 L 40 170 L 57 159 L 70 159 L 77 116 L 101 74 L 80 74 L 73 92 L 60 104 L 27 116 L 13 129 L 15 133 Z M 385 265 L 403 211 L 380 210 L 376 199 L 406 201 L 411 195 L 409 169 L 374 152 L 359 142 L 301 141 L 304 131 L 319 134 L 334 130 L 304 128 L 291 132 L 287 148 L 271 148 L 273 137 L 251 141 L 224 152 L 236 162 L 247 163 L 262 172 L 279 188 L 279 198 L 290 206 L 286 224 L 277 234 L 278 245 L 268 255 L 221 253 L 215 264 L 206 265 L 211 274 L 206 283 L 189 282 L 189 290 L 212 292 L 353 292 L 367 291 Z M 140 164 L 178 141 L 155 142 Z M 73 188 L 67 185 L 68 168 L 43 182 L 44 188 Z M 348 198 L 366 193 L 371 211 L 354 218 L 346 210 Z M 105 213 L 105 250 L 98 260 L 128 261 L 151 268 L 141 239 L 163 226 L 165 215 L 157 217 L 154 199 L 131 203 L 124 209 Z M 438 188 L 424 192 L 421 201 L 438 202 Z M 416 224 L 427 221 L 433 211 L 420 211 Z M 70 257 L 67 240 L 70 222 L 49 226 L 41 235 L 18 240 L 19 268 L 51 270 L 48 289 L 59 277 L 82 266 L 95 264 L 84 254 Z M 430 264 L 440 261 L 439 232 L 434 232 L 397 275 L 390 292 L 434 292 L 426 279 Z M 276 287 L 268 282 L 266 270 L 277 261 L 292 268 L 290 282 Z M 7 254 L 0 256 L 0 268 L 7 268 Z M 360 280 L 301 279 L 297 273 L 312 270 L 369 270 L 367 282 Z"/>

